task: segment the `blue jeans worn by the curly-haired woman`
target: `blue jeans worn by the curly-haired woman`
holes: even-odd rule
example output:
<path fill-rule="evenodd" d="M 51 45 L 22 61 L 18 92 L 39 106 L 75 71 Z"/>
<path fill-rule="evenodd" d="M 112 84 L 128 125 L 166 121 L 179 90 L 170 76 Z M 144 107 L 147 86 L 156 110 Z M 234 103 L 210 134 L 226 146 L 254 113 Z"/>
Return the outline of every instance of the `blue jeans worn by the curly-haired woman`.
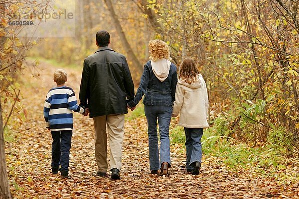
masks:
<path fill-rule="evenodd" d="M 167 162 L 170 167 L 169 125 L 172 106 L 145 105 L 145 115 L 148 121 L 149 165 L 150 170 L 158 170 L 161 163 Z M 160 159 L 157 133 L 157 121 L 160 129 Z"/>

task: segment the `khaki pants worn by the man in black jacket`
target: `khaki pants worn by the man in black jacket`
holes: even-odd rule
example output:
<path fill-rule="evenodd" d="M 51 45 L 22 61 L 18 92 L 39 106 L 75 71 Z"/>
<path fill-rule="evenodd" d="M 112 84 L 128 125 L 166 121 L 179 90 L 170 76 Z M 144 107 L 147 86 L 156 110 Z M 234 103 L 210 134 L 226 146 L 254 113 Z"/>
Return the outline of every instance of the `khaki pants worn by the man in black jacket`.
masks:
<path fill-rule="evenodd" d="M 95 155 L 98 171 L 107 172 L 107 133 L 110 146 L 110 167 L 111 169 L 121 169 L 122 166 L 122 147 L 124 138 L 124 114 L 113 114 L 94 117 L 95 125 Z"/>

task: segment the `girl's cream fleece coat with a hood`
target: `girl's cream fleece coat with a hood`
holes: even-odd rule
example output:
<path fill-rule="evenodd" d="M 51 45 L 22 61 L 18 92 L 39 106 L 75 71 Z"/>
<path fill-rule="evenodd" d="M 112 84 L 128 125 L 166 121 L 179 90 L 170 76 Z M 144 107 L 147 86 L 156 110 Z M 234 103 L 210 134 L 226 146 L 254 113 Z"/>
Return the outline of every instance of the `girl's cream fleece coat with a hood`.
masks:
<path fill-rule="evenodd" d="M 173 116 L 180 113 L 179 125 L 186 128 L 208 128 L 209 100 L 206 83 L 198 75 L 196 83 L 178 80 L 173 105 Z"/>

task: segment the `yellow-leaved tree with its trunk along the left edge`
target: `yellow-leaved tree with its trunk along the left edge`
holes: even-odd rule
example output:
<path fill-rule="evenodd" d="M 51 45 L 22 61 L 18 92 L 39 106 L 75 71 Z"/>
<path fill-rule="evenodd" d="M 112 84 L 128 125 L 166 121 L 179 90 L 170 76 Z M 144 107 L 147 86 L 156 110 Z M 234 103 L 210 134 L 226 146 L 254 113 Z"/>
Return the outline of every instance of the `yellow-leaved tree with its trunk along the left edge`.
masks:
<path fill-rule="evenodd" d="M 11 199 L 9 190 L 9 181 L 6 170 L 5 160 L 5 141 L 4 130 L 8 128 L 8 120 L 13 114 L 20 115 L 20 109 L 15 108 L 19 99 L 19 85 L 15 82 L 16 74 L 22 70 L 22 62 L 25 59 L 26 51 L 28 51 L 34 41 L 32 38 L 20 40 L 17 37 L 21 26 L 12 26 L 11 21 L 21 21 L 22 18 L 14 18 L 19 13 L 30 12 L 39 6 L 44 11 L 48 6 L 49 0 L 45 3 L 37 5 L 36 2 L 24 0 L 22 2 L 14 2 L 10 0 L 0 2 L 0 198 Z M 26 6 L 26 9 L 24 9 Z M 30 9 L 28 9 L 30 8 Z M 8 114 L 4 114 L 3 104 L 5 108 L 10 107 Z M 20 116 L 19 116 L 20 117 Z M 5 120 L 4 120 L 5 119 Z M 20 118 L 21 119 L 21 118 Z"/>

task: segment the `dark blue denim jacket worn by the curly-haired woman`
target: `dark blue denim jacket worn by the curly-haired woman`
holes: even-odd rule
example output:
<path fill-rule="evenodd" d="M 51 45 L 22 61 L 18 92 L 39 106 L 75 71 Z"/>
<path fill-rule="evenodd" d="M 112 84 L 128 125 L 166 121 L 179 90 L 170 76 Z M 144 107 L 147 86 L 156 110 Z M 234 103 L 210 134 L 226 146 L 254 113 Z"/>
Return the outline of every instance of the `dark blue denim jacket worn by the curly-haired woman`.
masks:
<path fill-rule="evenodd" d="M 143 103 L 150 106 L 172 106 L 177 83 L 176 66 L 171 63 L 167 79 L 161 82 L 153 73 L 150 60 L 145 64 L 140 84 L 129 107 L 135 107 L 145 94 Z"/>

